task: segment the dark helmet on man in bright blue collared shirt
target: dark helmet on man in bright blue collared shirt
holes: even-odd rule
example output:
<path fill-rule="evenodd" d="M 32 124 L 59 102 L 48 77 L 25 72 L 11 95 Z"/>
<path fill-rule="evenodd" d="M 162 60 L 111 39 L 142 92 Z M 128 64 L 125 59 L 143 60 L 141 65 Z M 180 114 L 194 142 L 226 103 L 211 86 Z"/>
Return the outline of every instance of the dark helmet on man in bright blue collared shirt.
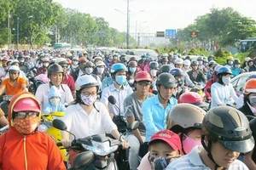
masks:
<path fill-rule="evenodd" d="M 157 86 L 163 85 L 166 88 L 176 88 L 177 83 L 175 78 L 170 74 L 169 72 L 163 72 L 161 73 L 156 80 L 155 83 Z"/>

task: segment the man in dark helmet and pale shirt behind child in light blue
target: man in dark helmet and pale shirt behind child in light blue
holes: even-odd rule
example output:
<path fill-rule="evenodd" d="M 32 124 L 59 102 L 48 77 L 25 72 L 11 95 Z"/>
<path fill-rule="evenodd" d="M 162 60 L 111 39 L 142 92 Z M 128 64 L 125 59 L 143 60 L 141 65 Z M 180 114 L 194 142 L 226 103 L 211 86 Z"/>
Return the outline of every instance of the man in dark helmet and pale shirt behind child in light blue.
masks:
<path fill-rule="evenodd" d="M 60 90 L 61 103 L 71 103 L 73 101 L 73 95 L 70 91 L 70 88 L 68 88 L 66 84 L 62 84 L 64 78 L 64 71 L 61 65 L 50 65 L 47 73 L 50 82 L 40 85 L 36 92 L 36 97 L 40 102 L 41 107 L 44 108 L 44 105 L 48 102 L 49 88 L 51 88 L 52 86 L 55 86 Z"/>

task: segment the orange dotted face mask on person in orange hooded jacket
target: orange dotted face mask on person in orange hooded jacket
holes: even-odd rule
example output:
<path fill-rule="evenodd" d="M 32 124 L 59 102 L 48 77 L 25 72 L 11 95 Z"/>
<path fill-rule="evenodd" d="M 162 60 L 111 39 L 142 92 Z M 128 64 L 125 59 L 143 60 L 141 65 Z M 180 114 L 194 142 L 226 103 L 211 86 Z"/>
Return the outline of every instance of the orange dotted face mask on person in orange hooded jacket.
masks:
<path fill-rule="evenodd" d="M 33 133 L 35 131 L 35 129 L 38 127 L 39 125 L 39 117 L 28 117 L 26 116 L 26 118 L 24 119 L 16 119 L 14 120 L 14 126 L 15 129 L 22 134 L 30 134 Z"/>

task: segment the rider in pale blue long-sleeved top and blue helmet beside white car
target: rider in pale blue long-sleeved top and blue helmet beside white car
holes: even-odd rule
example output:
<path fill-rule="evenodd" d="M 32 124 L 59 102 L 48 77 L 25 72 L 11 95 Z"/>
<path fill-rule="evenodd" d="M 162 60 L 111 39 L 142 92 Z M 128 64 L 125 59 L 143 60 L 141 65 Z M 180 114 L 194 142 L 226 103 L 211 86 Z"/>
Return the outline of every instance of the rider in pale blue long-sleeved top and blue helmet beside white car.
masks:
<path fill-rule="evenodd" d="M 231 75 L 232 72 L 226 66 L 220 67 L 218 69 L 218 82 L 214 82 L 211 87 L 211 108 L 218 105 L 230 105 L 233 103 L 232 99 L 234 99 L 235 102 L 238 100 L 236 92 L 232 84 L 230 84 Z M 232 96 L 232 99 L 230 99 L 230 95 Z"/>

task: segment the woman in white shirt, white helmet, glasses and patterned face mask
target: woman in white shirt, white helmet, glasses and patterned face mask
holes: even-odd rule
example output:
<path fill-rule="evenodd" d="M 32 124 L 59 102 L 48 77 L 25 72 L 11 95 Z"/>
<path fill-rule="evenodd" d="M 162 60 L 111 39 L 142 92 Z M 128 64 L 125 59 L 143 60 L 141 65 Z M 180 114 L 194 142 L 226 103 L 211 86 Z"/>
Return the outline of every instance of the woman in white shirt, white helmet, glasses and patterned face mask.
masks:
<path fill-rule="evenodd" d="M 66 123 L 67 131 L 73 133 L 77 139 L 83 139 L 94 134 L 111 133 L 115 139 L 121 139 L 116 125 L 111 120 L 108 110 L 101 102 L 96 102 L 99 85 L 94 77 L 84 75 L 76 81 L 76 99 L 73 105 L 67 107 L 65 116 L 61 120 Z M 66 131 L 61 131 L 62 144 L 71 146 L 73 136 Z M 129 144 L 121 139 L 123 148 L 128 149 Z M 69 151 L 69 160 L 73 165 L 73 159 L 79 152 Z"/>

